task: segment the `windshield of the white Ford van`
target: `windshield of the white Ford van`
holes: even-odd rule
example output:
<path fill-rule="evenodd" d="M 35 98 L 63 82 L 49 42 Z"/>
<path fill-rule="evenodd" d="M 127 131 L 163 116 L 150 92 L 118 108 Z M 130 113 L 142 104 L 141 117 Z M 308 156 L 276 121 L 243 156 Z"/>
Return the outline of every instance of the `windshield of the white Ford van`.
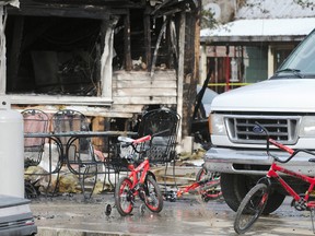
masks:
<path fill-rule="evenodd" d="M 313 31 L 276 71 L 277 78 L 315 79 L 315 31 Z"/>

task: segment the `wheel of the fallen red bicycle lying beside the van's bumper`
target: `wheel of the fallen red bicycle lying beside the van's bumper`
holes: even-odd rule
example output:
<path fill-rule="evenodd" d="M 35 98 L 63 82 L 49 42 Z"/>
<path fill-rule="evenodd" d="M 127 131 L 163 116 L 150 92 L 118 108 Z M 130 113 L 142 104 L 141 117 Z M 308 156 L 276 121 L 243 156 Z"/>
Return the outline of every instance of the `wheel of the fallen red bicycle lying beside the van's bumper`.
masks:
<path fill-rule="evenodd" d="M 200 181 L 203 178 L 208 178 L 205 185 L 200 186 L 202 190 L 202 200 L 208 202 L 209 200 L 215 200 L 222 197 L 221 185 L 220 185 L 220 174 L 208 173 L 208 169 L 203 167 L 198 170 L 196 175 L 196 181 Z"/>

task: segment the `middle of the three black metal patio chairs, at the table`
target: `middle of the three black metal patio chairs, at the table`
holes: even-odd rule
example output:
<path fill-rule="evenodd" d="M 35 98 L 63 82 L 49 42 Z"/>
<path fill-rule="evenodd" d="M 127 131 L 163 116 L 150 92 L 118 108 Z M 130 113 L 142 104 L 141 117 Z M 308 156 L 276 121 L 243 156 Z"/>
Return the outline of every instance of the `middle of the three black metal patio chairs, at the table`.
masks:
<path fill-rule="evenodd" d="M 80 111 L 62 109 L 51 117 L 51 126 L 55 133 L 75 131 L 90 131 L 89 119 Z M 60 137 L 62 143 L 61 165 L 67 165 L 69 170 L 79 177 L 84 198 L 90 198 L 97 180 L 100 162 L 95 160 L 94 148 L 91 138 Z M 90 193 L 86 194 L 86 180 L 90 180 Z M 60 184 L 58 178 L 58 184 Z"/>

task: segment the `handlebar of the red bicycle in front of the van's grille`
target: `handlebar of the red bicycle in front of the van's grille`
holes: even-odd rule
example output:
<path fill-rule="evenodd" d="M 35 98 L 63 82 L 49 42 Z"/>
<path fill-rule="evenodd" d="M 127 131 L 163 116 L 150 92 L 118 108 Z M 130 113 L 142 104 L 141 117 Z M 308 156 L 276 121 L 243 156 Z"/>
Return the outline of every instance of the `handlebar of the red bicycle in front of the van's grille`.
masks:
<path fill-rule="evenodd" d="M 260 132 L 264 131 L 264 132 L 266 133 L 267 154 L 268 154 L 269 156 L 271 156 L 272 158 L 275 158 L 277 162 L 288 163 L 288 162 L 290 162 L 291 158 L 293 158 L 293 157 L 294 157 L 298 153 L 300 153 L 300 152 L 304 152 L 304 153 L 307 153 L 307 154 L 311 154 L 311 155 L 315 155 L 315 153 L 313 153 L 313 152 L 311 152 L 311 151 L 303 150 L 303 149 L 293 150 L 293 149 L 291 149 L 291 148 L 289 148 L 289 146 L 287 146 L 287 145 L 283 145 L 282 143 L 277 142 L 276 140 L 273 140 L 273 139 L 271 139 L 271 138 L 269 137 L 268 130 L 267 130 L 265 127 L 262 127 L 259 122 L 255 122 L 255 123 L 261 129 Z M 256 127 L 254 127 L 254 132 L 255 132 L 255 129 L 258 130 Z M 270 153 L 269 143 L 271 143 L 272 145 L 277 146 L 278 149 L 281 149 L 282 151 L 288 152 L 288 153 L 290 154 L 290 156 L 289 156 L 287 160 L 282 161 L 282 160 L 280 160 L 279 157 L 272 155 L 272 154 Z"/>

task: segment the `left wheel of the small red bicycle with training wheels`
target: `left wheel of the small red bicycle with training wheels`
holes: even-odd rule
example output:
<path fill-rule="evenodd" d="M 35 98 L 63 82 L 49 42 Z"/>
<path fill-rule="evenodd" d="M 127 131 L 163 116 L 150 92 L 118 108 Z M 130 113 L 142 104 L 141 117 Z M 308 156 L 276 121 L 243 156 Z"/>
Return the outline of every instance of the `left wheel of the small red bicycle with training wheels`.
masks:
<path fill-rule="evenodd" d="M 133 210 L 135 197 L 132 181 L 128 177 L 119 178 L 115 187 L 115 205 L 121 216 L 130 214 Z"/>

